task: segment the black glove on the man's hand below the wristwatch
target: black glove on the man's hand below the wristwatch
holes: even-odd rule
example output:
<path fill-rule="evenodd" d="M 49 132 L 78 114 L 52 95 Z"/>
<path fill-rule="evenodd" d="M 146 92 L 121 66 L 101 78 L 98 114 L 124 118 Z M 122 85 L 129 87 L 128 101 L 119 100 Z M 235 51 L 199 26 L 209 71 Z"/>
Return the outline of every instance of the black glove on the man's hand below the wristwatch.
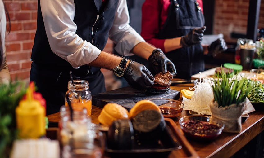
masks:
<path fill-rule="evenodd" d="M 149 70 L 133 60 L 127 65 L 124 78 L 131 87 L 136 89 L 147 89 L 154 84 L 154 76 Z"/>

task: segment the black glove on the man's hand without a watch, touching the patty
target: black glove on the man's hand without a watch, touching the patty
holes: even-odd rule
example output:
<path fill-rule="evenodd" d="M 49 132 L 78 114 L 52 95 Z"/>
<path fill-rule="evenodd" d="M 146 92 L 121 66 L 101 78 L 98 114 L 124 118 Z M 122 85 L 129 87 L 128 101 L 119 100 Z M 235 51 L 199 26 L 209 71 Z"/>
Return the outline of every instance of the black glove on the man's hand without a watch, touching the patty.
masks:
<path fill-rule="evenodd" d="M 168 70 L 173 76 L 177 74 L 174 64 L 161 49 L 153 50 L 152 54 L 148 57 L 148 62 L 153 66 L 156 73 L 166 73 Z"/>

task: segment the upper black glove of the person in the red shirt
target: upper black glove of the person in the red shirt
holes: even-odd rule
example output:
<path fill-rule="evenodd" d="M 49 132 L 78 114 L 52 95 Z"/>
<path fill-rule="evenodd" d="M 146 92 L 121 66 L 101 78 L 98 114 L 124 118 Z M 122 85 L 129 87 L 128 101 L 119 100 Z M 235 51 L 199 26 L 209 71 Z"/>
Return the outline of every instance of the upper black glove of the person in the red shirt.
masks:
<path fill-rule="evenodd" d="M 206 30 L 206 27 L 203 26 L 198 29 L 193 29 L 187 35 L 182 36 L 180 39 L 180 46 L 182 47 L 189 47 L 195 44 L 198 44 L 203 39 L 203 32 Z"/>

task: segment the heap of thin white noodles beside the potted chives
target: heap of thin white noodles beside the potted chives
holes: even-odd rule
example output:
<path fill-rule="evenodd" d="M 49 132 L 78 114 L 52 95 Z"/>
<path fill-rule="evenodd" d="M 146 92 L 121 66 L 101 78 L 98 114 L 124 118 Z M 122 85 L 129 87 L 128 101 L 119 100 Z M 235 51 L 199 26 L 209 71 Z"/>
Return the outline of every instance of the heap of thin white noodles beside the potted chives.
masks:
<path fill-rule="evenodd" d="M 193 87 L 194 94 L 192 99 L 183 99 L 184 110 L 192 110 L 202 115 L 211 115 L 210 102 L 214 98 L 212 91 L 212 82 L 210 79 L 204 78 L 203 81 L 197 82 Z M 189 88 L 192 90 L 193 88 Z"/>

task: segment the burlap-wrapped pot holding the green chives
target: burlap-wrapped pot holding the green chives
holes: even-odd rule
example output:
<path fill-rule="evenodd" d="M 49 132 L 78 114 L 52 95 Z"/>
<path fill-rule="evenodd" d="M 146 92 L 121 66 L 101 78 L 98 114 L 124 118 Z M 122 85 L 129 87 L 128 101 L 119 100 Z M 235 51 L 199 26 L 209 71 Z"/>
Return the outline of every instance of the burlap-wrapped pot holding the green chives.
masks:
<path fill-rule="evenodd" d="M 225 124 L 224 132 L 239 133 L 242 129 L 241 115 L 243 113 L 244 102 L 238 106 L 231 104 L 225 107 L 218 107 L 214 100 L 210 103 L 212 117 L 221 120 Z"/>

